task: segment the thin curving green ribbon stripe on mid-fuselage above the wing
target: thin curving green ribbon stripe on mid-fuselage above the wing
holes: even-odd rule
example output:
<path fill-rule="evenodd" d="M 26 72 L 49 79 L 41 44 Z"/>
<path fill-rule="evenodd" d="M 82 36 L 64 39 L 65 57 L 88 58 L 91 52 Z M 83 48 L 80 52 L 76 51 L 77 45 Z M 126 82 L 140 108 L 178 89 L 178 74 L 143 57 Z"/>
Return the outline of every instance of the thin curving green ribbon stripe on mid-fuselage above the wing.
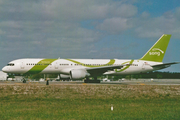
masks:
<path fill-rule="evenodd" d="M 78 61 L 75 61 L 75 60 L 72 60 L 72 59 L 66 59 L 66 60 L 71 61 L 73 63 L 76 63 L 78 65 L 86 66 L 86 67 L 102 67 L 102 66 L 113 65 L 115 63 L 114 59 L 111 59 L 107 64 L 103 64 L 103 65 L 84 64 L 84 63 L 81 63 L 81 62 L 78 62 Z"/>

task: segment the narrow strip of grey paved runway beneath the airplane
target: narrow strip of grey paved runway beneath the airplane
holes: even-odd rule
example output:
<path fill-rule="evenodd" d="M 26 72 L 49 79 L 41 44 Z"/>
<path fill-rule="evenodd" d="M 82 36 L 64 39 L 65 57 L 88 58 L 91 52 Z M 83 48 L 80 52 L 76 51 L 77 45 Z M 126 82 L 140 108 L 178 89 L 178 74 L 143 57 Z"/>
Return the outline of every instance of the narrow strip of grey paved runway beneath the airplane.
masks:
<path fill-rule="evenodd" d="M 46 85 L 46 82 L 34 82 L 27 81 L 26 83 L 22 83 L 21 81 L 0 81 L 0 85 Z M 140 80 L 123 80 L 123 81 L 111 81 L 111 82 L 103 82 L 101 83 L 84 83 L 83 81 L 49 81 L 49 85 L 76 85 L 76 84 L 94 84 L 94 85 L 109 85 L 109 84 L 117 84 L 117 85 L 180 85 L 180 79 L 140 79 Z"/>

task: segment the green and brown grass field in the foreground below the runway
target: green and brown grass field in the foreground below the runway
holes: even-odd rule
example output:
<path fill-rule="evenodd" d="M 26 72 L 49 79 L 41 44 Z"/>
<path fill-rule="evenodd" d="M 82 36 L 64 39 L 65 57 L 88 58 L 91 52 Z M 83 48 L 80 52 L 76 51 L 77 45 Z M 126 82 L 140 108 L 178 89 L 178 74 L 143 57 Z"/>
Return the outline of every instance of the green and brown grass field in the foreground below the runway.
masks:
<path fill-rule="evenodd" d="M 2 120 L 179 120 L 179 113 L 175 85 L 0 85 Z"/>

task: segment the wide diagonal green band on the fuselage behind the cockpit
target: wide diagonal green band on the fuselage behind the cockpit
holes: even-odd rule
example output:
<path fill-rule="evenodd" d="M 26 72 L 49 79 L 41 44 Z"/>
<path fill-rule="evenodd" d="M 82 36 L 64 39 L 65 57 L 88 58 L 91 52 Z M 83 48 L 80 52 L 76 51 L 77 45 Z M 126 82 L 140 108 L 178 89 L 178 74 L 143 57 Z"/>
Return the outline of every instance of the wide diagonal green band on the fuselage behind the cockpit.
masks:
<path fill-rule="evenodd" d="M 43 59 L 34 65 L 26 74 L 35 74 L 43 71 L 47 66 L 57 59 Z"/>

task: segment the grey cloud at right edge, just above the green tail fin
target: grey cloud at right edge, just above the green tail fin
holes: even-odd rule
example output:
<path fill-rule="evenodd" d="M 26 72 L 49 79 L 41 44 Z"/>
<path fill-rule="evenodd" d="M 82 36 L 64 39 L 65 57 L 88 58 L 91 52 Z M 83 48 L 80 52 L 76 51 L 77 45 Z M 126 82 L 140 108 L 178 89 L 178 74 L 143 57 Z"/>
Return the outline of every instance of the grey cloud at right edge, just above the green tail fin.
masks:
<path fill-rule="evenodd" d="M 147 13 L 142 13 L 142 17 L 134 22 L 137 25 L 135 33 L 143 38 L 158 37 L 162 34 L 172 34 L 176 38 L 180 38 L 178 37 L 180 30 L 178 18 L 180 11 L 178 9 L 175 12 L 167 11 L 158 17 L 151 17 Z"/>

